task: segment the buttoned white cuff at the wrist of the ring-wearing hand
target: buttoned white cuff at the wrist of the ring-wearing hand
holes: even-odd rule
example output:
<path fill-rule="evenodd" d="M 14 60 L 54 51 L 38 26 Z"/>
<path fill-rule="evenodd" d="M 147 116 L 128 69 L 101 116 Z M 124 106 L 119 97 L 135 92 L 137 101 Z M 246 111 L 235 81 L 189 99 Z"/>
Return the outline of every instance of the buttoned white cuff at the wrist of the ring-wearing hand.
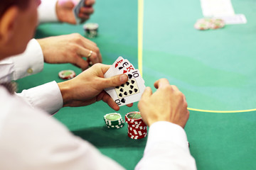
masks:
<path fill-rule="evenodd" d="M 13 80 L 21 79 L 43 70 L 43 51 L 35 39 L 28 42 L 23 54 L 11 57 L 11 60 L 14 63 Z"/>

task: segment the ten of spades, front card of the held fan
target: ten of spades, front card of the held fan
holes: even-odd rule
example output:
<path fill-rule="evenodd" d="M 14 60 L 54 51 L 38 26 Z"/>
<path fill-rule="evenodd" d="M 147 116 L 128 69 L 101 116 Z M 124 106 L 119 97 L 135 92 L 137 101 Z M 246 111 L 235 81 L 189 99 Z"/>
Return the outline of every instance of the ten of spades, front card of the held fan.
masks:
<path fill-rule="evenodd" d="M 146 88 L 138 69 L 127 72 L 126 74 L 129 80 L 125 84 L 105 89 L 107 94 L 113 98 L 118 106 L 124 106 L 139 101 Z"/>

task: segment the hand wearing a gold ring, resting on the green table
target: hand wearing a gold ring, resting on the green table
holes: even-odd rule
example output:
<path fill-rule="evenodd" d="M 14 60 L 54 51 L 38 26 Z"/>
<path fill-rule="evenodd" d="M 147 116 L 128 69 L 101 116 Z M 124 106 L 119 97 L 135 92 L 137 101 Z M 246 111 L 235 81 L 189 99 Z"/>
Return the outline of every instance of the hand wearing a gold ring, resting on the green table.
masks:
<path fill-rule="evenodd" d="M 102 62 L 102 55 L 95 42 L 82 37 L 78 33 L 43 38 L 39 39 L 38 42 L 47 63 L 71 63 L 85 70 L 90 63 Z M 92 54 L 90 55 L 91 50 Z M 88 57 L 89 55 L 90 57 Z M 87 60 L 83 60 L 82 57 L 86 57 Z"/>

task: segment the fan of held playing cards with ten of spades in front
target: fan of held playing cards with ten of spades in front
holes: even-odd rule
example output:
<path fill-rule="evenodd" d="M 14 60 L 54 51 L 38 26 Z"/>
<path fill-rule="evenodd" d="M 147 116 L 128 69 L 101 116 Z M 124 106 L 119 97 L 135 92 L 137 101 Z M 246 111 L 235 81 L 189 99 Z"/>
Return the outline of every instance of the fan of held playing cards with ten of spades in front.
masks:
<path fill-rule="evenodd" d="M 121 86 L 105 89 L 107 94 L 111 96 L 118 106 L 139 101 L 146 88 L 144 80 L 139 74 L 139 70 L 134 69 L 134 66 L 128 60 L 118 57 L 110 69 L 104 74 L 104 77 L 109 78 L 118 74 L 127 74 L 128 81 Z"/>

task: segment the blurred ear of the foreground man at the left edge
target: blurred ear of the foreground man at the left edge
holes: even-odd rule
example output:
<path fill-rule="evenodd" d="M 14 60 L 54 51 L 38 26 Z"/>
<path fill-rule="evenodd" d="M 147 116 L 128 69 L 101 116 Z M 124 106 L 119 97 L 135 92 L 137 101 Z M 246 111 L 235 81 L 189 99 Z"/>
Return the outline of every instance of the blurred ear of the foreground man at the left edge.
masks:
<path fill-rule="evenodd" d="M 18 18 L 18 8 L 11 6 L 8 8 L 3 16 L 0 18 L 0 41 L 1 43 L 8 43 L 14 35 L 15 27 Z"/>

